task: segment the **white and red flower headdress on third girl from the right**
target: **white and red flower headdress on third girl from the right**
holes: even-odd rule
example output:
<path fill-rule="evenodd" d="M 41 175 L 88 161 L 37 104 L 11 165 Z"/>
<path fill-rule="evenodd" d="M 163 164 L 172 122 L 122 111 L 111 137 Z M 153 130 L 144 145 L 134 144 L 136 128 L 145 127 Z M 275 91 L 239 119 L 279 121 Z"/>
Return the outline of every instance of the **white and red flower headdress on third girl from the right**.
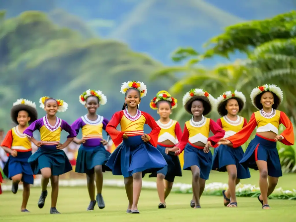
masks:
<path fill-rule="evenodd" d="M 189 113 L 191 113 L 191 107 L 186 107 L 186 105 L 188 102 L 193 101 L 192 99 L 202 99 L 208 104 L 208 107 L 204 107 L 205 110 L 203 115 L 209 114 L 216 105 L 215 98 L 207 91 L 203 91 L 202 89 L 191 89 L 183 96 L 183 106 L 185 106 L 186 111 Z"/>

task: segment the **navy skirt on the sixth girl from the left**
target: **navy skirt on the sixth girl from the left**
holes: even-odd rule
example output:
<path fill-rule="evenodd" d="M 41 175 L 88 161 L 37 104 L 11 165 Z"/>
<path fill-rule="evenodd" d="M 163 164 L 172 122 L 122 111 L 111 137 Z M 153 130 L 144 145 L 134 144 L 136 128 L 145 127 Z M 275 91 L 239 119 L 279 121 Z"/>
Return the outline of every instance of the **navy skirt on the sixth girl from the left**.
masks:
<path fill-rule="evenodd" d="M 211 172 L 212 158 L 211 152 L 205 153 L 203 149 L 198 149 L 187 143 L 184 149 L 183 170 L 191 170 L 191 166 L 198 166 L 200 178 L 207 180 Z"/>

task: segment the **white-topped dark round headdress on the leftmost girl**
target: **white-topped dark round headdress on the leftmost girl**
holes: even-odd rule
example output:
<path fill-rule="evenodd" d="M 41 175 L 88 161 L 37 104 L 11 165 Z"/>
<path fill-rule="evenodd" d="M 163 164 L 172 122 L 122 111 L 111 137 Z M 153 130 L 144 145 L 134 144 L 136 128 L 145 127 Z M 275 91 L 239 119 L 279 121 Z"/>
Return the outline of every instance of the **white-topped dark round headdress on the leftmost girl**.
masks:
<path fill-rule="evenodd" d="M 30 122 L 37 120 L 38 114 L 35 102 L 32 102 L 28 99 L 17 99 L 17 101 L 13 103 L 10 112 L 11 119 L 15 124 L 18 124 L 17 115 L 21 110 L 28 112 L 29 117 L 31 118 Z"/>

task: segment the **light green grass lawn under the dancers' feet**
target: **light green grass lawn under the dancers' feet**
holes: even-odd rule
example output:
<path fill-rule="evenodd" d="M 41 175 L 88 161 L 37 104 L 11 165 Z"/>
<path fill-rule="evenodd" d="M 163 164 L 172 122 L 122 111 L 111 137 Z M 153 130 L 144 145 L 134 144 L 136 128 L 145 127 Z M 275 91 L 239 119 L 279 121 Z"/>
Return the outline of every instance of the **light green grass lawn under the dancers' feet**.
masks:
<path fill-rule="evenodd" d="M 120 179 L 119 176 L 112 176 L 105 173 L 105 178 Z M 155 181 L 155 178 L 148 178 L 146 181 Z M 184 172 L 184 176 L 177 178 L 176 182 L 190 183 L 190 172 Z M 296 175 L 287 174 L 280 178 L 279 186 L 283 189 L 296 188 Z M 227 182 L 227 175 L 224 173 L 212 172 L 210 182 Z M 258 186 L 258 172 L 252 171 L 250 179 L 242 181 L 243 184 L 255 184 Z M 156 190 L 143 190 L 139 201 L 140 214 L 126 214 L 127 198 L 124 188 L 104 187 L 103 196 L 106 207 L 100 210 L 97 206 L 94 211 L 87 212 L 89 197 L 86 187 L 60 187 L 57 209 L 60 215 L 50 215 L 50 191 L 43 209 L 37 206 L 41 192 L 40 188 L 32 188 L 28 203 L 28 210 L 31 213 L 21 213 L 20 204 L 22 191 L 17 194 L 4 192 L 0 195 L 0 221 L 252 221 L 264 219 L 266 221 L 279 221 L 284 218 L 286 222 L 296 221 L 295 207 L 293 200 L 269 200 L 271 210 L 262 210 L 257 198 L 239 197 L 237 208 L 223 206 L 222 197 L 203 196 L 201 198 L 201 209 L 193 209 L 189 206 L 192 194 L 170 194 L 167 199 L 167 208 L 158 209 L 159 203 Z"/>

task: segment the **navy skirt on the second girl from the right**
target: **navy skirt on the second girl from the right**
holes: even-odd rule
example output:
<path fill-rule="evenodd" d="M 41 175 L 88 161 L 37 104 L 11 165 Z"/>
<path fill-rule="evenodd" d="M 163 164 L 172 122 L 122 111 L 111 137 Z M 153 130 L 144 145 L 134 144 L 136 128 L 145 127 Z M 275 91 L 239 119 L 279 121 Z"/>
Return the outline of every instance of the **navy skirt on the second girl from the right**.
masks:
<path fill-rule="evenodd" d="M 249 168 L 244 168 L 239 163 L 243 156 L 244 151 L 242 150 L 242 147 L 233 148 L 227 145 L 220 145 L 214 149 L 212 170 L 226 172 L 227 165 L 236 165 L 238 179 L 250 178 Z"/>

